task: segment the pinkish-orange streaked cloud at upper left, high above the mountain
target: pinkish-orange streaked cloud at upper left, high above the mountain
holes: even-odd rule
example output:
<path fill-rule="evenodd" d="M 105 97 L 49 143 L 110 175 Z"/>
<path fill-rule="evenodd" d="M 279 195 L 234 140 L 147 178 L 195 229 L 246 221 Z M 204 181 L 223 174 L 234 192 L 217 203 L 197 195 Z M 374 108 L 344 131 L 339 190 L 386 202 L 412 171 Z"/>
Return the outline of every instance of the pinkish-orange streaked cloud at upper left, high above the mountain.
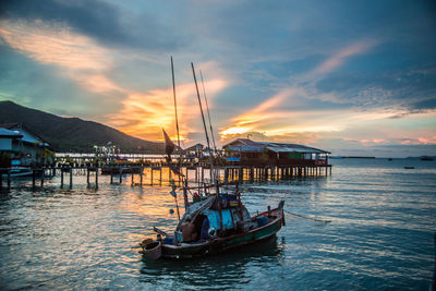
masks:
<path fill-rule="evenodd" d="M 106 96 L 125 94 L 105 75 L 113 65 L 112 51 L 89 37 L 41 21 L 3 20 L 0 24 L 0 38 L 10 47 L 41 64 L 53 65 L 84 89 Z"/>

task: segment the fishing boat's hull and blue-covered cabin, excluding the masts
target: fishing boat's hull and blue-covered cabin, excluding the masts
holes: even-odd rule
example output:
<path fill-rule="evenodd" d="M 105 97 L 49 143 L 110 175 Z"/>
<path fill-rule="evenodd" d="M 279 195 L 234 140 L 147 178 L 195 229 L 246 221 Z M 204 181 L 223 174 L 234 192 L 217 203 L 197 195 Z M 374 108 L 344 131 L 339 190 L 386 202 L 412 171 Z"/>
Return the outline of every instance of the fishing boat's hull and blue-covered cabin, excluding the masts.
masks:
<path fill-rule="evenodd" d="M 281 201 L 277 208 L 268 207 L 266 211 L 250 217 L 239 193 L 211 194 L 186 209 L 173 234 L 154 228 L 157 238 L 145 241 L 142 253 L 154 259 L 192 258 L 267 241 L 284 225 L 283 204 Z M 196 227 L 197 240 L 185 242 L 183 226 L 191 219 Z"/>

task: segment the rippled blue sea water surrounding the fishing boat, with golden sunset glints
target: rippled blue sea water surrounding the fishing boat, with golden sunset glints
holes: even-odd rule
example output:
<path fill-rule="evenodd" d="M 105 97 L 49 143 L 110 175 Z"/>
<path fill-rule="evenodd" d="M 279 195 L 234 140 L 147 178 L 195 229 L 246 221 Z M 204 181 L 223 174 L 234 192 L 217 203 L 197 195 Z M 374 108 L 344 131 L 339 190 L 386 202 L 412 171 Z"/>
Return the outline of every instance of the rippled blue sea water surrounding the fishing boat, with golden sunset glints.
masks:
<path fill-rule="evenodd" d="M 168 185 L 13 182 L 0 195 L 0 289 L 428 290 L 436 161 L 330 162 L 331 177 L 243 184 L 252 214 L 284 199 L 286 226 L 263 244 L 192 260 L 150 262 L 134 248 L 153 226 L 173 230 Z"/>

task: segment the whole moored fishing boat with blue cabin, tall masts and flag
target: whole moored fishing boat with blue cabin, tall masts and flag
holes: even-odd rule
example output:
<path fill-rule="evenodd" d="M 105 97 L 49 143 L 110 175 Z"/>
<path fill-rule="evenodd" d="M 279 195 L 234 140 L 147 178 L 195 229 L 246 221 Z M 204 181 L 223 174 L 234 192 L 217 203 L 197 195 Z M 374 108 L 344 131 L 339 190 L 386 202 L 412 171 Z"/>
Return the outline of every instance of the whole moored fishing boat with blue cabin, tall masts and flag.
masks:
<path fill-rule="evenodd" d="M 210 149 L 211 147 L 203 113 L 195 70 L 192 63 L 191 65 L 195 81 L 207 147 Z M 174 95 L 175 126 L 180 147 L 172 58 L 171 69 Z M 204 96 L 207 106 L 206 94 Z M 213 135 L 210 116 L 209 124 L 210 133 Z M 246 207 L 241 201 L 239 184 L 234 184 L 234 189 L 229 190 L 229 185 L 220 183 L 218 174 L 215 172 L 213 153 L 208 155 L 210 182 L 205 183 L 202 181 L 201 183 L 190 187 L 187 179 L 184 178 L 179 169 L 180 158 L 179 165 L 171 163 L 171 154 L 173 153 L 175 145 L 172 143 L 165 130 L 164 137 L 166 141 L 168 165 L 171 171 L 178 174 L 179 179 L 181 179 L 183 183 L 183 187 L 180 190 L 183 190 L 185 213 L 180 219 L 175 193 L 177 186 L 175 183 L 172 183 L 172 191 L 170 193 L 175 199 L 179 223 L 173 233 L 166 233 L 165 231 L 154 227 L 154 231 L 157 232 L 156 239 L 147 239 L 140 244 L 143 248 L 141 252 L 146 257 L 153 259 L 158 259 L 160 257 L 192 258 L 222 253 L 231 248 L 242 247 L 246 244 L 266 241 L 276 235 L 276 233 L 284 225 L 284 201 L 281 201 L 277 208 L 271 209 L 271 207 L 268 206 L 265 211 L 250 216 Z M 215 140 L 214 148 L 216 148 Z M 189 202 L 189 194 L 192 195 L 192 203 Z"/>

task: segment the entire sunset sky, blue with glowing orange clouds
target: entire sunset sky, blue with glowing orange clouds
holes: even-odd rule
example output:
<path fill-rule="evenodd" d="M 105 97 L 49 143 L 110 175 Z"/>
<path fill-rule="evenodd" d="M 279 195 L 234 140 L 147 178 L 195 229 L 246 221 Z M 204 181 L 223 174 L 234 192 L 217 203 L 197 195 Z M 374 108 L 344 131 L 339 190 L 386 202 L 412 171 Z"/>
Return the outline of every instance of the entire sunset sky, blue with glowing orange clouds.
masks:
<path fill-rule="evenodd" d="M 218 146 L 436 156 L 434 1 L 0 2 L 0 100 L 175 138 L 171 56 L 184 146 L 205 143 L 193 62 Z"/>

